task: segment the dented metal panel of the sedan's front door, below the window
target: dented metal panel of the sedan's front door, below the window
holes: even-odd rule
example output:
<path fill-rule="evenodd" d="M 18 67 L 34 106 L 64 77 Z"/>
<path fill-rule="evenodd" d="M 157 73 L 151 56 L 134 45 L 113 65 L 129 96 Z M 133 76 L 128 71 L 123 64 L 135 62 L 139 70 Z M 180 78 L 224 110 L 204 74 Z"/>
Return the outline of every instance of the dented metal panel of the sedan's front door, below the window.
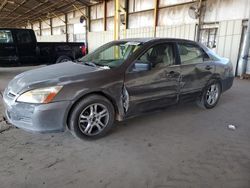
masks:
<path fill-rule="evenodd" d="M 125 87 L 129 94 L 128 115 L 162 108 L 177 102 L 180 67 L 128 73 Z"/>

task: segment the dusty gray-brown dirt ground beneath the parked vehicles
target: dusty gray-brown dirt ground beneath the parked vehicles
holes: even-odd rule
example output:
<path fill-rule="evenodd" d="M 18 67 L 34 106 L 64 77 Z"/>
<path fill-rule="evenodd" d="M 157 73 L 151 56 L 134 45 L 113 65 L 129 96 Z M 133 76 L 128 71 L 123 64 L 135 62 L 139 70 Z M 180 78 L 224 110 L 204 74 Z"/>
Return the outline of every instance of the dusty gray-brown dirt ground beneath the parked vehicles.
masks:
<path fill-rule="evenodd" d="M 0 90 L 31 68 L 1 68 Z M 250 81 L 236 79 L 212 110 L 178 105 L 117 123 L 96 141 L 11 128 L 0 143 L 3 188 L 249 188 Z"/>

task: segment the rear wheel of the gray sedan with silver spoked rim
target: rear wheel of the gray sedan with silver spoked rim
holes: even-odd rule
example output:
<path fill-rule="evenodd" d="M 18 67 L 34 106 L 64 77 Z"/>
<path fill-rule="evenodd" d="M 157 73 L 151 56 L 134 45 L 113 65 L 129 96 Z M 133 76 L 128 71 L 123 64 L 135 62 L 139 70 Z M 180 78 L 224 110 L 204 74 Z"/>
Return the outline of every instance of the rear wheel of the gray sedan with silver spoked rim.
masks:
<path fill-rule="evenodd" d="M 202 95 L 197 99 L 197 105 L 203 109 L 214 108 L 221 96 L 221 85 L 218 81 L 211 81 L 203 90 Z"/>

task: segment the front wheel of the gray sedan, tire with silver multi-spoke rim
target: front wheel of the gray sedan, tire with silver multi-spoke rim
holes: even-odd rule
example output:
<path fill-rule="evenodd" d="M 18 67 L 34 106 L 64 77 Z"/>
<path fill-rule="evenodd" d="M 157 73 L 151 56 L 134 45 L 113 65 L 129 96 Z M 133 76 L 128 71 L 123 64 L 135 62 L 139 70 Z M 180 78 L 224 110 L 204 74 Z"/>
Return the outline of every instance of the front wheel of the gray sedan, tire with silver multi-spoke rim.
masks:
<path fill-rule="evenodd" d="M 69 129 L 80 139 L 98 139 L 114 126 L 115 110 L 101 95 L 90 95 L 78 102 L 69 116 Z"/>

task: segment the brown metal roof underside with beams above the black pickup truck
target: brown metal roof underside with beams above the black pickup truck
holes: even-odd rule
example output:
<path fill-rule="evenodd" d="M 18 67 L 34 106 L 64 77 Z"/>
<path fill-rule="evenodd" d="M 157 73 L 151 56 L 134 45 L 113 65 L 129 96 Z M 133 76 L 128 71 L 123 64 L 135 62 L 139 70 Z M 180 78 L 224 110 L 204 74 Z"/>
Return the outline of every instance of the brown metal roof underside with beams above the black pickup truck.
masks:
<path fill-rule="evenodd" d="M 81 9 L 102 0 L 1 0 L 0 27 L 20 27 Z"/>

